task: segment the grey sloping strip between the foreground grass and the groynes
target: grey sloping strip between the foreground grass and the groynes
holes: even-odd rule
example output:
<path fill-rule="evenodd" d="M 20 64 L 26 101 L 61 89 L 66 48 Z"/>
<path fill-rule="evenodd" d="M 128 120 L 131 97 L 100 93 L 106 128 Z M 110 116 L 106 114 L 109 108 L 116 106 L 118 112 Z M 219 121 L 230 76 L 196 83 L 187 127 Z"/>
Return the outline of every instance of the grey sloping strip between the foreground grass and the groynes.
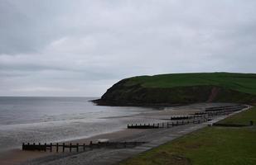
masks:
<path fill-rule="evenodd" d="M 245 111 L 248 108 L 242 110 Z M 238 113 L 240 111 L 236 111 Z M 234 115 L 234 114 L 230 114 Z M 23 164 L 43 164 L 43 165 L 110 165 L 116 164 L 125 158 L 130 158 L 138 153 L 147 151 L 148 149 L 155 148 L 161 144 L 165 144 L 173 139 L 179 138 L 185 134 L 189 134 L 195 130 L 202 129 L 211 123 L 215 123 L 219 120 L 223 120 L 229 115 L 223 115 L 215 118 L 210 122 L 205 122 L 202 124 L 191 124 L 191 125 L 181 125 L 172 127 L 171 129 L 154 129 L 148 130 L 148 132 L 140 134 L 140 136 L 130 137 L 126 140 L 137 140 L 137 141 L 147 141 L 147 144 L 142 144 L 135 148 L 120 148 L 120 149 L 109 149 L 100 148 L 88 151 L 85 153 L 64 153 L 56 154 L 51 157 L 38 158 L 31 162 Z"/>

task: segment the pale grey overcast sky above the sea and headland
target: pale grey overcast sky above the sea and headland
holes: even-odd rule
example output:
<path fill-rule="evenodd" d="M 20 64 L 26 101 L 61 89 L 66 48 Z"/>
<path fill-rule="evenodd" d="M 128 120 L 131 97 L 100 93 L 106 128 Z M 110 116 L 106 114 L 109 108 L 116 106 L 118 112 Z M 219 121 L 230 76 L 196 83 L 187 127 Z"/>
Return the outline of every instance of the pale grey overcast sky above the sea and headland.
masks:
<path fill-rule="evenodd" d="M 255 0 L 0 0 L 0 96 L 100 97 L 120 79 L 256 72 Z"/>

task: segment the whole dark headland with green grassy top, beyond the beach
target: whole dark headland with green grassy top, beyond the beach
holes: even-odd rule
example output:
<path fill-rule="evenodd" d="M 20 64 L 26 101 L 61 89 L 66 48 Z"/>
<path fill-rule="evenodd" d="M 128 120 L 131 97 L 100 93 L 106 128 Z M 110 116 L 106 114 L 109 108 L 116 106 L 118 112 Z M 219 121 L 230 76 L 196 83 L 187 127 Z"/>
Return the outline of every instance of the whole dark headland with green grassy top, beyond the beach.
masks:
<path fill-rule="evenodd" d="M 125 78 L 95 102 L 109 106 L 255 103 L 256 74 L 175 73 Z"/>

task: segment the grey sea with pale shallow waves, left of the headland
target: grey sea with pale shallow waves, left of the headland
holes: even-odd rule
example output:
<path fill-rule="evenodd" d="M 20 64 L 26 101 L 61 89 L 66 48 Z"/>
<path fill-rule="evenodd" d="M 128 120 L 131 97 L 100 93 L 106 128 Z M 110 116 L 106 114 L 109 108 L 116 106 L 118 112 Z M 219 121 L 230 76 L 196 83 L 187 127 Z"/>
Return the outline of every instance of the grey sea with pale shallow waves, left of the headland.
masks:
<path fill-rule="evenodd" d="M 142 107 L 95 106 L 93 97 L 0 97 L 0 150 L 122 130 Z M 127 116 L 127 117 L 118 117 Z"/>

